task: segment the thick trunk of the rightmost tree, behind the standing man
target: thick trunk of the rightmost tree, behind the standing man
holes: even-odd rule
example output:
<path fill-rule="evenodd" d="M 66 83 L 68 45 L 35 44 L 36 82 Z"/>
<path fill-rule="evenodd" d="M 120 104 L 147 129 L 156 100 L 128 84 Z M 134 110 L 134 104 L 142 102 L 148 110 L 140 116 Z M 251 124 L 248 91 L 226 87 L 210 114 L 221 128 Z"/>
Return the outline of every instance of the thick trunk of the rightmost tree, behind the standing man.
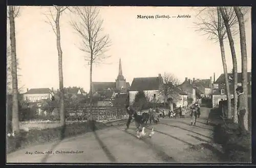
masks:
<path fill-rule="evenodd" d="M 241 47 L 241 57 L 242 57 L 242 87 L 244 90 L 244 94 L 246 99 L 246 112 L 244 115 L 244 126 L 245 129 L 248 130 L 248 82 L 247 82 L 247 51 L 246 51 L 246 37 L 245 37 L 245 26 L 244 26 L 244 15 L 241 12 L 239 7 L 234 7 L 234 12 L 238 17 L 239 22 L 239 32 L 240 32 L 240 47 Z"/>

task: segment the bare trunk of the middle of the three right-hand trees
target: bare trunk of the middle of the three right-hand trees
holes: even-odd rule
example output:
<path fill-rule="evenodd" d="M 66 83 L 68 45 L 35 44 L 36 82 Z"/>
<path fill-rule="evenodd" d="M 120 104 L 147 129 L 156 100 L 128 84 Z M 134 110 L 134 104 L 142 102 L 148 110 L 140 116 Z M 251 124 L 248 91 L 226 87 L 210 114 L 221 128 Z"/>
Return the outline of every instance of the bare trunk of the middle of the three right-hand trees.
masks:
<path fill-rule="evenodd" d="M 238 123 L 238 116 L 237 116 L 237 103 L 238 103 L 238 95 L 236 89 L 238 87 L 238 66 L 237 66 L 237 57 L 236 51 L 234 50 L 234 41 L 232 38 L 231 30 L 229 27 L 229 22 L 226 13 L 224 12 L 225 7 L 220 7 L 221 15 L 225 23 L 229 46 L 231 50 L 232 62 L 233 62 L 233 122 Z"/>

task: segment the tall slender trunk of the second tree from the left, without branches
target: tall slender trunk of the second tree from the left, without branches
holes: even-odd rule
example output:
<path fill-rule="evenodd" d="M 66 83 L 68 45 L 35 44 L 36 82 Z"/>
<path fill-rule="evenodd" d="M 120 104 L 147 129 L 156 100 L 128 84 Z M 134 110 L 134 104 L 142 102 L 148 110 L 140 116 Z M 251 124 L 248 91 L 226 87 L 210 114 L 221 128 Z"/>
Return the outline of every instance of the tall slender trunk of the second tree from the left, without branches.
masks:
<path fill-rule="evenodd" d="M 59 112 L 60 112 L 60 124 L 62 127 L 65 127 L 66 116 L 65 116 L 64 93 L 63 93 L 62 51 L 60 46 L 59 17 L 60 17 L 60 8 L 58 7 L 55 23 L 56 23 L 58 64 L 59 64 L 59 103 L 60 103 Z"/>

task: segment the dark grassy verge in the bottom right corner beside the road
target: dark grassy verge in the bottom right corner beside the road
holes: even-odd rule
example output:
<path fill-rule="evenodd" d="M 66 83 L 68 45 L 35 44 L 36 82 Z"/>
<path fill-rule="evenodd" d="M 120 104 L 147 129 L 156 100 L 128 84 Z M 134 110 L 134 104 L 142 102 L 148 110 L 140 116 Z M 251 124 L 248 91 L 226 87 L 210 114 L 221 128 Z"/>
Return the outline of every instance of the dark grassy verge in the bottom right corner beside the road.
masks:
<path fill-rule="evenodd" d="M 214 128 L 214 141 L 223 147 L 225 160 L 251 162 L 251 135 L 239 137 L 238 124 L 219 124 Z"/>

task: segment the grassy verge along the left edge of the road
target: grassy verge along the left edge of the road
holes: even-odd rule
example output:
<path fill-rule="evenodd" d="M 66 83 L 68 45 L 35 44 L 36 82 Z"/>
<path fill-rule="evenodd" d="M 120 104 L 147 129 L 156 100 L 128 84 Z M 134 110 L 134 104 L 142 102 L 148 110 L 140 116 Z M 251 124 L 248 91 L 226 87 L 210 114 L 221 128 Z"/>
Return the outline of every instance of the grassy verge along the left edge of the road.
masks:
<path fill-rule="evenodd" d="M 95 130 L 101 130 L 113 125 L 122 125 L 125 122 L 125 119 L 107 123 L 95 122 Z M 55 142 L 63 138 L 68 138 L 91 131 L 92 130 L 89 122 L 73 123 L 66 125 L 65 128 L 57 127 L 45 130 L 30 130 L 28 132 L 22 130 L 20 131 L 20 134 L 15 135 L 15 137 L 7 136 L 7 154 L 18 149 L 24 149 L 28 146 L 45 142 Z"/>

